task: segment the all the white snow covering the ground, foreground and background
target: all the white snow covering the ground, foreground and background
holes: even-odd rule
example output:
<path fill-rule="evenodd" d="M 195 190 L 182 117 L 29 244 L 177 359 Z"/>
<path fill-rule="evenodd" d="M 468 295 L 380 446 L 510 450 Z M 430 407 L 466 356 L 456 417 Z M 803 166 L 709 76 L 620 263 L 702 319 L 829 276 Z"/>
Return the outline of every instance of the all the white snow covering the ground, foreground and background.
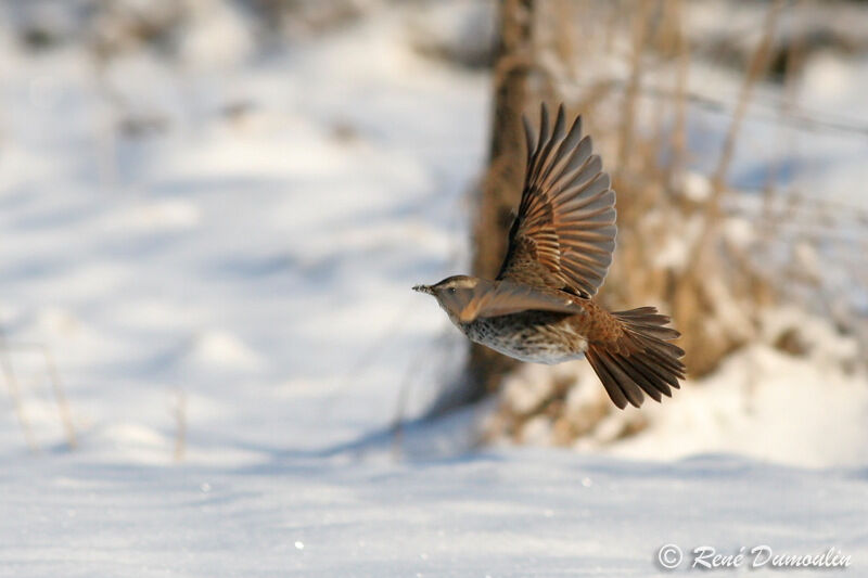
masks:
<path fill-rule="evenodd" d="M 260 53 L 234 3 L 191 5 L 177 60 L 101 65 L 0 18 L 0 352 L 39 448 L 0 397 L 0 576 L 648 576 L 669 542 L 866 567 L 858 350 L 799 311 L 576 451 L 480 448 L 492 401 L 413 421 L 462 362 L 410 286 L 464 265 L 488 77 L 420 54 L 409 9 Z M 824 151 L 843 196 L 860 150 Z M 774 347 L 797 325 L 799 358 Z M 526 371 L 507 395 L 532 408 Z M 596 387 L 566 402 L 597 411 Z"/>

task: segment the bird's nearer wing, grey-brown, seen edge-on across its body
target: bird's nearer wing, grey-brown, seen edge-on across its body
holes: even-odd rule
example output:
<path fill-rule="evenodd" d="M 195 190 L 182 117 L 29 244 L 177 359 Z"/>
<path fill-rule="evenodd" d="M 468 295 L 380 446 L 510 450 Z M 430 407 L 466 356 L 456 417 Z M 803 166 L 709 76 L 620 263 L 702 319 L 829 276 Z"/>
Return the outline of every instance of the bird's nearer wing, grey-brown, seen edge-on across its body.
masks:
<path fill-rule="evenodd" d="M 459 319 L 468 323 L 476 318 L 508 316 L 521 311 L 576 314 L 583 313 L 585 309 L 565 293 L 558 295 L 511 281 L 495 281 L 490 287 L 475 293 L 461 309 Z"/>

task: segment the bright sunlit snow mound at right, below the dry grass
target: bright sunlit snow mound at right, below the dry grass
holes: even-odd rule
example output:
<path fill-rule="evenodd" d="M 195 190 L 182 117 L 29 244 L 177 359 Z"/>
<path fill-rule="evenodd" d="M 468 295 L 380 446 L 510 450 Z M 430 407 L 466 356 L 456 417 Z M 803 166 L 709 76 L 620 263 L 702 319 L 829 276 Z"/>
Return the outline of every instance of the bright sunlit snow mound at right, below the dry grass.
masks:
<path fill-rule="evenodd" d="M 649 435 L 610 452 L 667 460 L 718 451 L 815 467 L 868 461 L 865 384 L 840 371 L 755 346 L 700 385 L 679 393 L 664 411 L 649 404 Z"/>

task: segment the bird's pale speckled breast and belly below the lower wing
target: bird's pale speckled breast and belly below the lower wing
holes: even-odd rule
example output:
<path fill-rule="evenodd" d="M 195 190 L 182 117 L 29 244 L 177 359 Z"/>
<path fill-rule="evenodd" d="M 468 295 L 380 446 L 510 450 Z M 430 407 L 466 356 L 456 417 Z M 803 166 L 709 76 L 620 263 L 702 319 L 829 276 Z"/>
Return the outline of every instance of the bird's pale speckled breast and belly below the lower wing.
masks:
<path fill-rule="evenodd" d="M 458 324 L 473 342 L 521 361 L 554 364 L 585 355 L 588 342 L 569 318 L 538 311 Z"/>

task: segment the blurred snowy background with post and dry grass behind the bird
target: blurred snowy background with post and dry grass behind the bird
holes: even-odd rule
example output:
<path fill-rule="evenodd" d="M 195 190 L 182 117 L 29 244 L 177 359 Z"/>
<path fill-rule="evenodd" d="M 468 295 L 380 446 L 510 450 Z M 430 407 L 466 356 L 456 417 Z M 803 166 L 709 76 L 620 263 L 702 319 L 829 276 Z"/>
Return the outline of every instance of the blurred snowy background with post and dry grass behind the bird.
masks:
<path fill-rule="evenodd" d="M 868 462 L 865 2 L 4 0 L 0 79 L 4 460 Z M 684 334 L 661 406 L 410 291 L 497 267 L 542 101 L 614 178 L 603 303 Z"/>

